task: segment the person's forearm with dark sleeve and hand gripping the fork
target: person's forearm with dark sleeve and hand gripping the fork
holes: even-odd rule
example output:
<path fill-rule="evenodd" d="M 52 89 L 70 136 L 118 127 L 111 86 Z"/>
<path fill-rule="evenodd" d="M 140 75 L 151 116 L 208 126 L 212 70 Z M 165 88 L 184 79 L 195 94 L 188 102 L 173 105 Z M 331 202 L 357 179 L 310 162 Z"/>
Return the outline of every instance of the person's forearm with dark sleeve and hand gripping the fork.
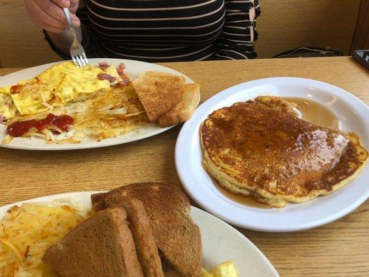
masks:
<path fill-rule="evenodd" d="M 82 42 L 80 19 L 75 15 L 78 0 L 25 0 L 26 11 L 30 20 L 46 33 L 46 39 L 53 45 L 53 49 L 62 56 L 69 56 L 72 36 L 62 7 L 69 8 L 75 33 Z"/>

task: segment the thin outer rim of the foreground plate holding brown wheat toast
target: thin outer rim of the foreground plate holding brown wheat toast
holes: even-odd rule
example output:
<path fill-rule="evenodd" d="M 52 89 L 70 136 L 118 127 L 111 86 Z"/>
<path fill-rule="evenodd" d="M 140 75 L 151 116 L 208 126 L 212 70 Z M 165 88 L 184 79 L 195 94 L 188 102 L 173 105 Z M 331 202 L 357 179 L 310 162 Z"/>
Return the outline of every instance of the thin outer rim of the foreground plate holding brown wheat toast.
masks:
<path fill-rule="evenodd" d="M 75 201 L 78 202 L 78 196 L 79 195 L 85 195 L 86 197 L 89 195 L 91 196 L 94 193 L 106 193 L 109 190 L 78 190 L 78 191 L 71 191 L 68 193 L 57 193 L 57 194 L 51 194 L 51 195 L 43 195 L 43 196 L 39 196 L 39 197 L 35 197 L 32 199 L 24 199 L 21 200 L 19 202 L 14 202 L 11 204 L 6 204 L 3 206 L 0 206 L 0 219 L 3 217 L 1 214 L 2 213 L 6 213 L 6 211 L 15 205 L 21 205 L 24 203 L 37 203 L 37 202 L 50 202 L 53 201 L 53 199 L 63 199 L 63 198 L 72 198 Z M 258 247 L 256 247 L 255 244 L 253 244 L 253 242 L 251 242 L 251 240 L 249 240 L 249 238 L 246 238 L 246 235 L 243 235 L 240 231 L 238 231 L 237 229 L 233 228 L 233 226 L 231 226 L 230 224 L 224 222 L 223 220 L 219 219 L 218 217 L 215 217 L 214 215 L 201 210 L 200 208 L 197 208 L 195 206 L 190 206 L 190 215 L 192 213 L 197 213 L 203 216 L 206 216 L 209 218 L 209 220 L 212 220 L 213 222 L 217 222 L 217 224 L 222 224 L 224 226 L 224 228 L 226 228 L 230 233 L 233 233 L 234 235 L 237 235 L 237 237 L 239 237 L 240 239 L 242 239 L 244 241 L 245 244 L 248 244 L 248 247 L 251 247 L 253 249 L 253 255 L 258 256 L 258 259 L 260 259 L 260 261 L 262 261 L 265 264 L 265 267 L 269 270 L 269 274 L 270 276 L 274 276 L 274 277 L 279 277 L 278 271 L 276 270 L 275 267 L 273 267 L 273 265 L 271 264 L 271 262 L 269 261 L 269 259 L 267 258 L 267 256 L 264 255 L 264 253 L 262 253 L 262 251 L 260 249 L 258 249 Z M 191 216 L 192 218 L 192 216 Z M 195 220 L 194 220 L 195 222 Z M 195 222 L 197 223 L 197 222 Z"/>

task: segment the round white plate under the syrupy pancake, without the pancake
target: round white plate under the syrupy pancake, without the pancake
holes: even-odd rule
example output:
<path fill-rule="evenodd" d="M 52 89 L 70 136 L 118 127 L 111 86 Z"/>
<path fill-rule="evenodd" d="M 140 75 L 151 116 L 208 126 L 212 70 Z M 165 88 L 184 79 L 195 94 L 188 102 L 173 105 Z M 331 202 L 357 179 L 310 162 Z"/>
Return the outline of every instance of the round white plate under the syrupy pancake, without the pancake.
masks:
<path fill-rule="evenodd" d="M 350 184 L 331 195 L 285 208 L 253 208 L 228 199 L 215 188 L 201 166 L 199 127 L 208 114 L 260 95 L 310 98 L 329 107 L 341 120 L 341 129 L 353 131 L 369 149 L 369 109 L 352 94 L 331 84 L 303 78 L 267 78 L 245 82 L 218 93 L 195 111 L 179 133 L 175 163 L 179 179 L 188 194 L 206 211 L 222 220 L 257 231 L 298 231 L 327 224 L 347 215 L 369 196 L 369 168 Z"/>

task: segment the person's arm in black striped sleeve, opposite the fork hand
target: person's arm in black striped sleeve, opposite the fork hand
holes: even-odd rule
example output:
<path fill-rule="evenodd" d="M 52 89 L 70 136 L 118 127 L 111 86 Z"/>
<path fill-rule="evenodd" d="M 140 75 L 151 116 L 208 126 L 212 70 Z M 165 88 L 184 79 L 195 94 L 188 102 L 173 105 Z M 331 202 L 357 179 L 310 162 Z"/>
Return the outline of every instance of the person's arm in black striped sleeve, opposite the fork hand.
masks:
<path fill-rule="evenodd" d="M 260 15 L 258 0 L 226 0 L 226 20 L 219 37 L 216 60 L 242 60 L 256 56 L 253 42 L 258 38 L 255 18 Z"/>

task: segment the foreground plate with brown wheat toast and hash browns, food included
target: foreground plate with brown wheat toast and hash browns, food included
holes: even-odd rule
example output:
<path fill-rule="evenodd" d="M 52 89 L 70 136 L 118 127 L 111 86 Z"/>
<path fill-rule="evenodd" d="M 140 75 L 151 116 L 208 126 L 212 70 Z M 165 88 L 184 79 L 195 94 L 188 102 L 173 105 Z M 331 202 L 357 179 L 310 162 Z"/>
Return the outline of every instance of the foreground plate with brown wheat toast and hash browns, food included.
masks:
<path fill-rule="evenodd" d="M 164 184 L 39 197 L 0 218 L 6 276 L 278 277 L 244 235 Z"/>

